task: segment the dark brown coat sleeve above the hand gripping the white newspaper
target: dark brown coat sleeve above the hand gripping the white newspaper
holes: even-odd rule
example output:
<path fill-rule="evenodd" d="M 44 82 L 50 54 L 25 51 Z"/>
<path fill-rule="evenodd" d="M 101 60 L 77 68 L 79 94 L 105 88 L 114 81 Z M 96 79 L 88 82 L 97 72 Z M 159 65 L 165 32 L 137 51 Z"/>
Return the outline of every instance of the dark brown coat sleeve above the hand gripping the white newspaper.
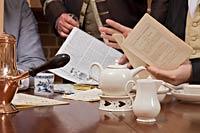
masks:
<path fill-rule="evenodd" d="M 52 1 L 46 4 L 46 7 L 44 7 L 45 0 L 40 0 L 40 2 L 43 6 L 43 10 L 44 10 L 46 18 L 51 24 L 51 27 L 54 30 L 54 32 L 57 34 L 57 31 L 55 29 L 56 20 L 62 13 L 66 12 L 66 7 L 63 1 L 62 0 Z"/>

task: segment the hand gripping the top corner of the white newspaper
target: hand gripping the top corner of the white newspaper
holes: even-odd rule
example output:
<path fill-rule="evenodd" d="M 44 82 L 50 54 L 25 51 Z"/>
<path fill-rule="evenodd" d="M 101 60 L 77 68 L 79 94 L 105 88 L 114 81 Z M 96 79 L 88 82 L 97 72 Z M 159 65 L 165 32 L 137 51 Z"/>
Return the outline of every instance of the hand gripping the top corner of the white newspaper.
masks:
<path fill-rule="evenodd" d="M 73 27 L 79 27 L 78 20 L 75 20 L 71 14 L 62 13 L 56 21 L 56 29 L 61 37 L 67 37 Z"/>

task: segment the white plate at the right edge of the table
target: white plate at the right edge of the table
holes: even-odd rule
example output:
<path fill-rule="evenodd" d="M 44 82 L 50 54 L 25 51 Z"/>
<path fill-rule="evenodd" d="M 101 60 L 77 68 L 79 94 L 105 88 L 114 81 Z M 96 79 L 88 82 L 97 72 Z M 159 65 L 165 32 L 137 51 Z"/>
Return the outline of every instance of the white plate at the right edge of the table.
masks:
<path fill-rule="evenodd" d="M 200 102 L 199 94 L 186 94 L 184 90 L 173 90 L 172 95 L 178 100 L 187 101 L 187 102 Z"/>

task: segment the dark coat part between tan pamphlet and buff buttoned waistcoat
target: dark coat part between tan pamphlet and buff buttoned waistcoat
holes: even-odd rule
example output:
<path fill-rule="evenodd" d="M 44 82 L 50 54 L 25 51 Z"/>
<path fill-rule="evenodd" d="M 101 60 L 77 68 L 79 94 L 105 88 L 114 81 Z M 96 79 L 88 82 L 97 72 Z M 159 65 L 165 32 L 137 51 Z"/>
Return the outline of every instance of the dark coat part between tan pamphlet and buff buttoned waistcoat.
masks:
<path fill-rule="evenodd" d="M 185 39 L 187 0 L 152 0 L 151 15 L 182 40 Z"/>

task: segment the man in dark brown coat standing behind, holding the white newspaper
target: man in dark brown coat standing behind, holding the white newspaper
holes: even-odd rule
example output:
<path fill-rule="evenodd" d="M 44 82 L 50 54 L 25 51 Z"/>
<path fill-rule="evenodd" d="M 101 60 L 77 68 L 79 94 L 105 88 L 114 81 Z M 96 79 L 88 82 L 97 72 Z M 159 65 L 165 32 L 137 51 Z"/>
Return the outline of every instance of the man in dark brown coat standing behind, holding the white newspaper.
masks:
<path fill-rule="evenodd" d="M 134 27 L 147 11 L 147 0 L 41 0 L 41 3 L 52 28 L 61 37 L 79 27 L 100 40 L 98 27 L 107 26 L 107 18 Z"/>

